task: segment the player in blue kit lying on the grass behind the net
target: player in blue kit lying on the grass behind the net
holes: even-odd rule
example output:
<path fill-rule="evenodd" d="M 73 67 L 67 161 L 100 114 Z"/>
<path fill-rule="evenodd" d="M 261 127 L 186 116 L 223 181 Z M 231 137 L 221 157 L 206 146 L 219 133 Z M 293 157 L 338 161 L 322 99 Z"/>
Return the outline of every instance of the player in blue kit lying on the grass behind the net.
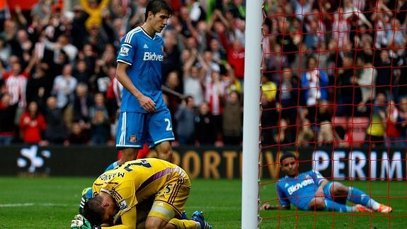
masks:
<path fill-rule="evenodd" d="M 280 157 L 281 171 L 285 174 L 277 181 L 278 205 L 264 204 L 263 210 L 290 209 L 290 203 L 304 211 L 381 212 L 390 213 L 391 207 L 377 203 L 365 192 L 330 182 L 314 170 L 298 174 L 297 157 L 286 152 Z M 346 201 L 355 206 L 346 205 Z"/>

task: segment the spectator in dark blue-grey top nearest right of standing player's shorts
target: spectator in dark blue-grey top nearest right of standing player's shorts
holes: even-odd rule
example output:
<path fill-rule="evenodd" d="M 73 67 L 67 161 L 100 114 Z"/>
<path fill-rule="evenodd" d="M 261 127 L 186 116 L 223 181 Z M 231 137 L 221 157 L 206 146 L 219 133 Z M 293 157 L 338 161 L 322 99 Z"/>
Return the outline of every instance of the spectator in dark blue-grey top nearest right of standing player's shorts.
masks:
<path fill-rule="evenodd" d="M 175 114 L 177 122 L 177 137 L 180 145 L 195 144 L 195 102 L 193 96 L 187 96 L 181 101 Z"/>

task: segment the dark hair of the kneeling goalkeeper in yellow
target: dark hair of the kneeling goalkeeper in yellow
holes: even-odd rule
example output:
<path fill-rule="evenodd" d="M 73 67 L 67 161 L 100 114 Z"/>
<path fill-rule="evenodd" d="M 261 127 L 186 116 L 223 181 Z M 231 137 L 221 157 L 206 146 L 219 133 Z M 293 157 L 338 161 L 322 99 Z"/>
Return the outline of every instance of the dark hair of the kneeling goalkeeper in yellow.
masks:
<path fill-rule="evenodd" d="M 103 223 L 105 210 L 102 208 L 102 201 L 102 196 L 98 195 L 85 203 L 82 216 L 84 216 L 91 225 L 101 225 Z"/>

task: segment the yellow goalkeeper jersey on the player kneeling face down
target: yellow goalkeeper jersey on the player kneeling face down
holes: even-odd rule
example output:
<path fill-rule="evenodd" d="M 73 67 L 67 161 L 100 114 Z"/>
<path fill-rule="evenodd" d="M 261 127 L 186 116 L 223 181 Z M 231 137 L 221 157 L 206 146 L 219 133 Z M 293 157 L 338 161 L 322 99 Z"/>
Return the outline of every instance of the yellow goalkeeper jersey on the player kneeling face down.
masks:
<path fill-rule="evenodd" d="M 105 191 L 120 207 L 120 215 L 137 203 L 170 191 L 174 182 L 188 180 L 188 175 L 176 164 L 157 158 L 145 158 L 126 162 L 116 169 L 101 174 L 93 183 L 93 196 Z"/>

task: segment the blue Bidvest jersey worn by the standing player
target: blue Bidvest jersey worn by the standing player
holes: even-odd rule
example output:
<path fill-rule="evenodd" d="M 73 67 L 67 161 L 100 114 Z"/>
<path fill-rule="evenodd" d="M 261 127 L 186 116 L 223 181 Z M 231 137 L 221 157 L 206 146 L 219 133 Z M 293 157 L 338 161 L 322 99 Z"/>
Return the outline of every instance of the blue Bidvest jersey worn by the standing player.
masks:
<path fill-rule="evenodd" d="M 156 111 L 166 108 L 161 91 L 161 65 L 164 61 L 164 40 L 159 35 L 151 38 L 141 28 L 128 32 L 120 43 L 117 62 L 130 67 L 127 75 L 134 86 L 156 103 Z M 121 111 L 147 112 L 127 89 L 123 89 Z"/>

